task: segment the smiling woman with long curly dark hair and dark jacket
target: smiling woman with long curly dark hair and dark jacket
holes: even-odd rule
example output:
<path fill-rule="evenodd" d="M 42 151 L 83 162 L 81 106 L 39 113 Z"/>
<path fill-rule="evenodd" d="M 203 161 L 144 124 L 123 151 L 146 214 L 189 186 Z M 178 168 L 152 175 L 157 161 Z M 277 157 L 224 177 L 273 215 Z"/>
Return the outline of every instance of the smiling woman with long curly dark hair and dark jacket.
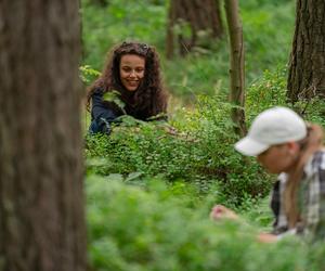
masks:
<path fill-rule="evenodd" d="M 121 108 L 105 101 L 105 93 L 118 93 Z M 165 115 L 167 93 L 162 89 L 160 65 L 156 50 L 144 43 L 123 42 L 116 47 L 102 75 L 89 88 L 87 105 L 91 103 L 91 133 L 110 133 L 110 122 L 121 115 L 141 120 Z"/>

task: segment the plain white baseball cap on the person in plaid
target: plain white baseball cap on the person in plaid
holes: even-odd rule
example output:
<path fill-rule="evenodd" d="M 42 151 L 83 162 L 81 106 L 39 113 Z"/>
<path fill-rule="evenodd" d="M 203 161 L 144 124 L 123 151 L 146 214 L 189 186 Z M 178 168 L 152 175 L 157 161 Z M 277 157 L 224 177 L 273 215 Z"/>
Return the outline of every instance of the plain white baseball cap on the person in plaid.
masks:
<path fill-rule="evenodd" d="M 244 155 L 256 156 L 272 145 L 306 137 L 307 126 L 303 119 L 294 111 L 278 106 L 258 115 L 248 134 L 235 144 L 235 149 Z"/>

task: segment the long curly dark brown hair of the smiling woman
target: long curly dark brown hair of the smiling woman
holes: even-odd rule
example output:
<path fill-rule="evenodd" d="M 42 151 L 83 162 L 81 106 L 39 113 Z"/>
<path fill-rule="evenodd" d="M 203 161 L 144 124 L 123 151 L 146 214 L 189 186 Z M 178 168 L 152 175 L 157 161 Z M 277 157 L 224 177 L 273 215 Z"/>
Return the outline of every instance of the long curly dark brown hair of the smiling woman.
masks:
<path fill-rule="evenodd" d="M 126 54 L 135 54 L 145 60 L 144 78 L 134 92 L 132 101 L 128 99 L 130 93 L 122 86 L 119 76 L 120 60 Z M 88 89 L 88 109 L 91 96 L 98 89 L 103 92 L 118 91 L 122 102 L 143 112 L 146 118 L 164 114 L 167 109 L 167 92 L 161 83 L 159 57 L 155 48 L 145 43 L 123 42 L 112 50 L 102 75 Z M 104 101 L 104 103 L 106 102 Z M 107 102 L 107 106 L 109 102 Z"/>

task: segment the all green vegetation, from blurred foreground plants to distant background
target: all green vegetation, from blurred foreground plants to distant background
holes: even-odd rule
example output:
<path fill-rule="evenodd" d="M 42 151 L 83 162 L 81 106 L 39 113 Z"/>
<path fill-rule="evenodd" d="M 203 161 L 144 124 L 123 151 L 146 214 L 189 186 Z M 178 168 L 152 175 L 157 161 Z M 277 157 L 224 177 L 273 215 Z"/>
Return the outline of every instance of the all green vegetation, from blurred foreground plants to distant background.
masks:
<path fill-rule="evenodd" d="M 227 103 L 229 46 L 222 40 L 165 59 L 166 0 L 82 0 L 84 85 L 101 70 L 109 48 L 139 40 L 160 53 L 171 94 L 169 121 L 125 117 L 110 137 L 86 136 L 89 262 L 93 270 L 322 270 L 324 246 L 296 238 L 266 245 L 274 177 L 233 149 Z M 246 52 L 246 117 L 287 104 L 286 65 L 295 26 L 294 0 L 239 1 Z M 223 14 L 224 16 L 224 14 Z M 225 22 L 225 21 L 224 21 Z M 324 102 L 295 109 L 325 125 Z M 89 115 L 84 115 L 84 130 Z M 213 204 L 246 222 L 212 223 Z M 265 264 L 268 262 L 268 264 Z"/>

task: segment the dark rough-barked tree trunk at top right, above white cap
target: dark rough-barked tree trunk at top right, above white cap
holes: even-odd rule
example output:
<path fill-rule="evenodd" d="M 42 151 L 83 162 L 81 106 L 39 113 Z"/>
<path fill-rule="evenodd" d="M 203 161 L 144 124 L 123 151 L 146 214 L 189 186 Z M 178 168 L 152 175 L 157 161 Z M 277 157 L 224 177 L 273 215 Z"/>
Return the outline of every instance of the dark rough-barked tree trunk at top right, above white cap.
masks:
<path fill-rule="evenodd" d="M 325 96 L 325 2 L 297 0 L 296 30 L 289 63 L 291 102 Z"/>

